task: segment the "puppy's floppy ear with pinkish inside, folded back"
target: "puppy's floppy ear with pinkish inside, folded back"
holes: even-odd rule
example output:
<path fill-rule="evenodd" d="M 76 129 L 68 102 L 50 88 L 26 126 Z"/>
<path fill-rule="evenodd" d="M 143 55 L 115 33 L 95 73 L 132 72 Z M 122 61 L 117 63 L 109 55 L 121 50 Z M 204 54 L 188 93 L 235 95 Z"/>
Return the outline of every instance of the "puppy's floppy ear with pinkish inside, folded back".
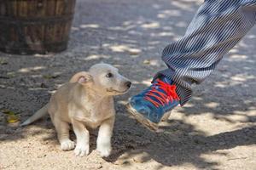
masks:
<path fill-rule="evenodd" d="M 69 82 L 79 82 L 80 84 L 85 85 L 93 82 L 93 80 L 89 72 L 81 71 L 73 75 Z"/>

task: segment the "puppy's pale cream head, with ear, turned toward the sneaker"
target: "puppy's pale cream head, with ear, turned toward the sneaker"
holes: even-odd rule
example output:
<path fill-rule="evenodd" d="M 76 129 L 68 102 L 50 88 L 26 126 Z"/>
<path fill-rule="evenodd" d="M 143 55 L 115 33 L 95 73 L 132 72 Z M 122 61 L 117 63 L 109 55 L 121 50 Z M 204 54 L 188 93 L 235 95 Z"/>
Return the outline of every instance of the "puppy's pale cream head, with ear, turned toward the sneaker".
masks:
<path fill-rule="evenodd" d="M 77 73 L 70 82 L 79 82 L 103 95 L 125 94 L 131 88 L 130 80 L 120 75 L 117 68 L 103 63 Z"/>

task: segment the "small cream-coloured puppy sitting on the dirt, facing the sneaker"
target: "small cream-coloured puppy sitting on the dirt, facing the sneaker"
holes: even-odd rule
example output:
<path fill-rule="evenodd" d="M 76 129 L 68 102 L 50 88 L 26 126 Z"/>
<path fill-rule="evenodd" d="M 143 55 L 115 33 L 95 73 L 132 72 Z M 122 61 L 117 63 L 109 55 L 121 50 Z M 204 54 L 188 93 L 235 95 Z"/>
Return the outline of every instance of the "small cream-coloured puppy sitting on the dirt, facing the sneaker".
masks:
<path fill-rule="evenodd" d="M 125 94 L 131 82 L 118 69 L 108 64 L 96 64 L 88 72 L 75 74 L 53 94 L 47 105 L 21 125 L 30 124 L 49 113 L 57 131 L 62 150 L 73 150 L 76 156 L 89 154 L 87 127 L 99 128 L 96 149 L 101 156 L 109 156 L 115 111 L 113 96 Z M 69 139 L 69 124 L 77 144 Z"/>

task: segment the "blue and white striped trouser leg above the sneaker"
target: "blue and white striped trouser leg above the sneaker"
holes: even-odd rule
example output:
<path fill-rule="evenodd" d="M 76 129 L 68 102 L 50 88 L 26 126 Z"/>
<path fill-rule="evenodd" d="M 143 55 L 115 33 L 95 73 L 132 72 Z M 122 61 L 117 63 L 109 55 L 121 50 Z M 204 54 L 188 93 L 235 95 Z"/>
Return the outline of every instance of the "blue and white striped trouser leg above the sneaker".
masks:
<path fill-rule="evenodd" d="M 184 105 L 192 94 L 191 85 L 201 83 L 256 23 L 256 0 L 205 0 L 185 35 L 164 48 L 164 75 L 177 85 Z"/>

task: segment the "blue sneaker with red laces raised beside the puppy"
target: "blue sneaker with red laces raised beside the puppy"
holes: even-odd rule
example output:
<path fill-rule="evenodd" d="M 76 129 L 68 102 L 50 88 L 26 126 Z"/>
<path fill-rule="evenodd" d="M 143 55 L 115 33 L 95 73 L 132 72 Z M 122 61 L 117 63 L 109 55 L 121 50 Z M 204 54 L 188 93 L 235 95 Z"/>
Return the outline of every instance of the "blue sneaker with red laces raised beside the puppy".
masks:
<path fill-rule="evenodd" d="M 179 104 L 176 86 L 166 77 L 156 79 L 151 86 L 131 99 L 127 105 L 129 113 L 150 130 L 156 131 L 158 123 Z M 168 114 L 169 115 L 169 114 Z"/>

